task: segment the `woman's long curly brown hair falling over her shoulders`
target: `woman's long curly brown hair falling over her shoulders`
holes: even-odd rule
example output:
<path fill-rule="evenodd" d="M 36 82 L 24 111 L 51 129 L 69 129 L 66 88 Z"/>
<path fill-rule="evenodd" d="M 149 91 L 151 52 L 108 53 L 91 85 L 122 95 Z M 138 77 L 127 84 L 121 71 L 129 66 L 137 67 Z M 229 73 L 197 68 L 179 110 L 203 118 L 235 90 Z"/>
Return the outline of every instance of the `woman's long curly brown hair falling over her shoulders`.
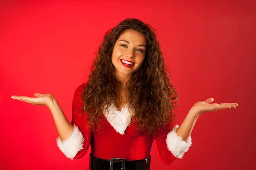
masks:
<path fill-rule="evenodd" d="M 134 18 L 127 18 L 109 29 L 96 52 L 89 79 L 82 93 L 84 111 L 90 129 L 101 127 L 104 105 L 108 107 L 119 100 L 115 68 L 111 62 L 113 47 L 127 30 L 142 33 L 147 42 L 145 59 L 139 70 L 132 73 L 125 91 L 127 105 L 137 129 L 154 134 L 171 122 L 175 125 L 173 108 L 178 105 L 175 88 L 170 84 L 171 74 L 166 68 L 154 28 Z M 119 100 L 120 101 L 120 100 Z M 121 103 L 121 102 L 119 102 Z M 170 124 L 169 124 L 170 125 Z"/>

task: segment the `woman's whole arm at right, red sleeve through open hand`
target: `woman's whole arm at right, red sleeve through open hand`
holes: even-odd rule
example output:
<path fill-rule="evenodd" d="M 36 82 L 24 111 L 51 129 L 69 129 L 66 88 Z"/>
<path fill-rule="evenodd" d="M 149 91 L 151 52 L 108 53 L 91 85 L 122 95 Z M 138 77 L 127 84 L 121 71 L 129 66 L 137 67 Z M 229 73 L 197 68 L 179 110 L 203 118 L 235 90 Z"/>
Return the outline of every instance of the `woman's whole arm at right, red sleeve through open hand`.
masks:
<path fill-rule="evenodd" d="M 153 143 L 157 156 L 164 164 L 170 164 L 176 158 L 182 158 L 189 150 L 192 144 L 190 134 L 202 113 L 238 106 L 237 103 L 209 104 L 212 101 L 213 98 L 209 98 L 204 102 L 196 102 L 180 126 L 175 125 L 172 130 L 169 126 L 163 130 L 157 130 L 157 134 L 153 136 Z"/>

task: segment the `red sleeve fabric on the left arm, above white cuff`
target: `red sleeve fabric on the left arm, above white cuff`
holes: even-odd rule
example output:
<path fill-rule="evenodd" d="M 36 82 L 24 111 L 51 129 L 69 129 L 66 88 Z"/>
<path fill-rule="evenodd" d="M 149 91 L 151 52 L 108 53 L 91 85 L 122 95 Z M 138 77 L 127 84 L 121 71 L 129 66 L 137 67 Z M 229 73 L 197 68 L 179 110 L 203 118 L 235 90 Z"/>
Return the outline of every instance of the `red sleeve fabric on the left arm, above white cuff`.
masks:
<path fill-rule="evenodd" d="M 84 91 L 85 84 L 79 85 L 78 88 L 76 88 L 73 102 L 72 102 L 72 125 L 76 125 L 79 130 L 81 131 L 82 135 L 84 136 L 84 142 L 83 142 L 83 149 L 79 150 L 74 159 L 80 159 L 85 155 L 87 152 L 90 140 L 91 140 L 91 131 L 89 130 L 89 127 L 87 126 L 87 115 L 84 113 L 83 110 L 83 101 L 81 100 L 81 94 Z"/>

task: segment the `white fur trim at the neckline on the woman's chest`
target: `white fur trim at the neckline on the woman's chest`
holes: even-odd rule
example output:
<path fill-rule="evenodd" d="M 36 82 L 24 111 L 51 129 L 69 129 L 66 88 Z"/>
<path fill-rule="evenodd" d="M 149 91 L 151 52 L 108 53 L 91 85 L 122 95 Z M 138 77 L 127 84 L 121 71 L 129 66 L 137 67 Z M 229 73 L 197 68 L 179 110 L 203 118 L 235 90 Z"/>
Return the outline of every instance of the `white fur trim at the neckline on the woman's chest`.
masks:
<path fill-rule="evenodd" d="M 104 108 L 103 113 L 116 132 L 124 135 L 126 128 L 131 123 L 131 114 L 128 111 L 127 105 L 125 104 L 121 111 L 118 111 L 116 106 L 112 104 L 108 111 Z"/>

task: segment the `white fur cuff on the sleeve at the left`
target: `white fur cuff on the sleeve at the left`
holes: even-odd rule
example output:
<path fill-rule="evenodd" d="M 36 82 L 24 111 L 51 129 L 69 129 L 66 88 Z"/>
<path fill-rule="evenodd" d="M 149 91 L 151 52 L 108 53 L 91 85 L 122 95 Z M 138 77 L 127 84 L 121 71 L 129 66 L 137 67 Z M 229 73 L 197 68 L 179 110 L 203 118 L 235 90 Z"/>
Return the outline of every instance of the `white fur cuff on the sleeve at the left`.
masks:
<path fill-rule="evenodd" d="M 60 137 L 56 140 L 60 150 L 70 159 L 73 159 L 79 150 L 84 149 L 84 136 L 76 125 L 74 125 L 73 132 L 66 140 L 62 142 Z"/>

